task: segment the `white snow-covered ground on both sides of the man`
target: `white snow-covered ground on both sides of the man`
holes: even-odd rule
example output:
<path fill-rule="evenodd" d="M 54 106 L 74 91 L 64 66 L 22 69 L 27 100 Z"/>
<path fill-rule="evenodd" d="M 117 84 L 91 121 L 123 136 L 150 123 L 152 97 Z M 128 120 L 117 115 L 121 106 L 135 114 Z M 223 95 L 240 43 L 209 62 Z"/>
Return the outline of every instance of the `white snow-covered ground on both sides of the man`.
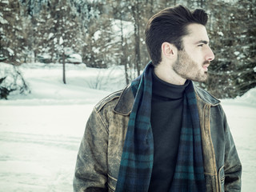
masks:
<path fill-rule="evenodd" d="M 78 147 L 90 111 L 125 83 L 118 67 L 66 68 L 64 85 L 61 65 L 26 64 L 19 70 L 31 94 L 0 100 L 0 191 L 72 191 Z M 243 165 L 242 191 L 254 191 L 256 89 L 242 98 L 224 100 L 222 106 Z"/>

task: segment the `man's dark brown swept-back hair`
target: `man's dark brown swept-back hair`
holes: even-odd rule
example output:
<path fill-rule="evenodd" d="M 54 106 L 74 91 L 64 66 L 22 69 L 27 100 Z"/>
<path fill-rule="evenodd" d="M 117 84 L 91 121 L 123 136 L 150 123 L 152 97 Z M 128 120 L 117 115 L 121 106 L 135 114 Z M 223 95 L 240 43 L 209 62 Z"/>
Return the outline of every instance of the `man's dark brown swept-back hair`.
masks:
<path fill-rule="evenodd" d="M 204 10 L 188 10 L 185 6 L 174 6 L 154 14 L 146 25 L 146 47 L 154 66 L 161 61 L 161 46 L 170 42 L 183 50 L 182 37 L 189 34 L 186 29 L 191 23 L 206 26 L 208 16 Z"/>

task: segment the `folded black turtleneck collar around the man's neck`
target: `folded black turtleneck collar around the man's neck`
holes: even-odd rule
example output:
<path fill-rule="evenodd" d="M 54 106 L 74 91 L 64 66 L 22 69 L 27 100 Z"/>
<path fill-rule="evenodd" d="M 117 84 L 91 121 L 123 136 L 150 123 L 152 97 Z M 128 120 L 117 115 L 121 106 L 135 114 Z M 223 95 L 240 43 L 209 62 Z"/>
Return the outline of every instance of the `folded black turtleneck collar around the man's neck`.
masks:
<path fill-rule="evenodd" d="M 154 98 L 157 97 L 160 99 L 162 98 L 163 100 L 174 100 L 183 97 L 184 90 L 189 84 L 188 80 L 186 80 L 184 85 L 177 86 L 170 84 L 169 82 L 162 81 L 162 79 L 158 78 L 158 76 L 154 73 L 154 70 L 152 73 L 152 94 Z"/>

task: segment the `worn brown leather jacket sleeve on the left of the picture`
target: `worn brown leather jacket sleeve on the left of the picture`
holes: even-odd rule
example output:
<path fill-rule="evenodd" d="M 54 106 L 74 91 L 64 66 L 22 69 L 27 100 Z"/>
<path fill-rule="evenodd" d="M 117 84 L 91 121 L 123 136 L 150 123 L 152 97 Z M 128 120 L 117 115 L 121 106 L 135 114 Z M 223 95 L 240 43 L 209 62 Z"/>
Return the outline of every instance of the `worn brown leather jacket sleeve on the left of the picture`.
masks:
<path fill-rule="evenodd" d="M 107 191 L 108 132 L 102 118 L 94 109 L 86 123 L 75 167 L 73 189 Z"/>

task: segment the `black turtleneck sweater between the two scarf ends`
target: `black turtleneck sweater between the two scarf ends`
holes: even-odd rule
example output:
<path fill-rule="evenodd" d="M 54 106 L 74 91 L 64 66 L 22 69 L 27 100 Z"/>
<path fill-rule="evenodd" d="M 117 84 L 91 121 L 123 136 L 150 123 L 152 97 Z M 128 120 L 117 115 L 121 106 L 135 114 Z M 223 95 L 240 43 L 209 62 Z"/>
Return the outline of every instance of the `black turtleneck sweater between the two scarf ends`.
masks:
<path fill-rule="evenodd" d="M 188 85 L 162 81 L 153 72 L 151 126 L 154 137 L 154 164 L 149 191 L 170 190 L 182 128 L 183 93 Z"/>

